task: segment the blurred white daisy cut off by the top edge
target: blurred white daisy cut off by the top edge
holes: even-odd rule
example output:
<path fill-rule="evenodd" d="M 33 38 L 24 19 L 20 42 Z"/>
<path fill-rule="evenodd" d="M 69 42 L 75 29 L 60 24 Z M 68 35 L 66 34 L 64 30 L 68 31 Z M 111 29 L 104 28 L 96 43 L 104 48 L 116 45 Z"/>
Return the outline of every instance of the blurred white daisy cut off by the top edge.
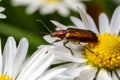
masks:
<path fill-rule="evenodd" d="M 77 11 L 76 5 L 84 7 L 80 0 L 12 0 L 13 5 L 27 5 L 26 12 L 32 14 L 39 10 L 42 14 L 58 12 L 62 16 L 68 16 L 70 10 Z"/>

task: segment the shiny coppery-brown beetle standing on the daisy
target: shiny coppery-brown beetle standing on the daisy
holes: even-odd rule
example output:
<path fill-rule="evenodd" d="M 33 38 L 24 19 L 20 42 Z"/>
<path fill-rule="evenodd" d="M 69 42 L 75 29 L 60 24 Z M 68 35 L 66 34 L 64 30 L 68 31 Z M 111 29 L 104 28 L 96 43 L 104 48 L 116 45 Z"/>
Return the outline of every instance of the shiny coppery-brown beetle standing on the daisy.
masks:
<path fill-rule="evenodd" d="M 59 37 L 60 38 L 60 40 L 55 40 L 54 42 L 58 42 L 63 39 L 66 39 L 66 41 L 64 41 L 63 45 L 71 51 L 72 55 L 73 55 L 72 50 L 66 46 L 66 44 L 69 41 L 78 42 L 79 44 L 80 44 L 80 42 L 84 42 L 84 43 L 98 42 L 98 38 L 94 32 L 92 32 L 90 30 L 77 29 L 77 28 L 68 28 L 67 30 L 58 30 L 58 31 L 52 32 L 51 37 Z M 80 44 L 80 45 L 82 45 L 82 44 Z M 87 48 L 86 46 L 84 46 L 84 47 Z M 87 48 L 87 49 L 89 51 L 91 51 L 89 48 Z"/>

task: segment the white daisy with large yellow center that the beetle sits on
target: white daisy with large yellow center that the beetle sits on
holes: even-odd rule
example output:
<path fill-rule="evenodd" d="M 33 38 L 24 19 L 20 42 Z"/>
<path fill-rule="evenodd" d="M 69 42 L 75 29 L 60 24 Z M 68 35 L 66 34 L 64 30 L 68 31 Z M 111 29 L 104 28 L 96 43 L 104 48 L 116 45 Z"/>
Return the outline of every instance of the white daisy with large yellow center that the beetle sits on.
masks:
<path fill-rule="evenodd" d="M 66 63 L 59 67 L 67 67 L 67 71 L 56 77 L 57 80 L 120 80 L 120 6 L 114 11 L 111 21 L 105 13 L 99 15 L 99 31 L 90 15 L 84 9 L 79 8 L 81 19 L 70 17 L 74 26 L 65 26 L 57 21 L 52 21 L 57 26 L 56 30 L 66 30 L 73 27 L 91 30 L 96 33 L 97 43 L 74 44 L 69 42 L 63 46 L 65 40 L 54 43 L 56 46 L 56 60 L 53 64 Z M 59 38 L 44 38 L 52 43 Z M 89 49 L 89 50 L 88 50 Z M 91 52 L 92 51 L 92 52 Z"/>

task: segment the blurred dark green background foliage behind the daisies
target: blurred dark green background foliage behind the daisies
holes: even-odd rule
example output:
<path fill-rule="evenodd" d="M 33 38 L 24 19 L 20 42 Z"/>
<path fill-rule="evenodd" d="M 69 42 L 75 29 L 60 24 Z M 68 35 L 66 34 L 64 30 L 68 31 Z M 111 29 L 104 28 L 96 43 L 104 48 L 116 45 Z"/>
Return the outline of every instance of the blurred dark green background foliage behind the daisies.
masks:
<path fill-rule="evenodd" d="M 50 15 L 41 15 L 39 12 L 35 12 L 32 15 L 28 15 L 25 12 L 25 6 L 11 6 L 11 0 L 2 0 L 0 5 L 5 7 L 3 12 L 7 19 L 1 19 L 0 21 L 0 37 L 2 40 L 2 47 L 9 36 L 13 36 L 17 43 L 22 37 L 26 37 L 29 41 L 29 54 L 32 54 L 39 45 L 48 44 L 42 37 L 44 34 L 32 34 L 34 32 L 46 32 L 47 29 L 38 21 L 42 20 L 50 30 L 55 31 L 55 26 L 50 20 L 56 20 L 65 25 L 70 25 L 70 16 L 80 17 L 79 13 L 71 11 L 71 14 L 67 17 L 62 17 L 57 13 Z M 118 6 L 111 0 L 91 0 L 83 2 L 87 6 L 87 12 L 94 18 L 96 25 L 98 24 L 98 15 L 101 12 L 105 12 L 109 18 L 111 18 L 114 9 Z M 30 35 L 32 34 L 32 35 Z"/>

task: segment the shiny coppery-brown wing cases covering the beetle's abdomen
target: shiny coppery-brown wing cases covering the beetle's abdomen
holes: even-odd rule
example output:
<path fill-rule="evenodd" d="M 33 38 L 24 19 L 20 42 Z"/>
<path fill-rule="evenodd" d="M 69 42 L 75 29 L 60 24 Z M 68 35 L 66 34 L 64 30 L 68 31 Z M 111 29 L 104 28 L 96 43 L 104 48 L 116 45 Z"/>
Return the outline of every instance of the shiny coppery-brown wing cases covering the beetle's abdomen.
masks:
<path fill-rule="evenodd" d="M 90 30 L 68 28 L 65 35 L 68 41 L 94 43 L 98 41 L 97 36 Z"/>

